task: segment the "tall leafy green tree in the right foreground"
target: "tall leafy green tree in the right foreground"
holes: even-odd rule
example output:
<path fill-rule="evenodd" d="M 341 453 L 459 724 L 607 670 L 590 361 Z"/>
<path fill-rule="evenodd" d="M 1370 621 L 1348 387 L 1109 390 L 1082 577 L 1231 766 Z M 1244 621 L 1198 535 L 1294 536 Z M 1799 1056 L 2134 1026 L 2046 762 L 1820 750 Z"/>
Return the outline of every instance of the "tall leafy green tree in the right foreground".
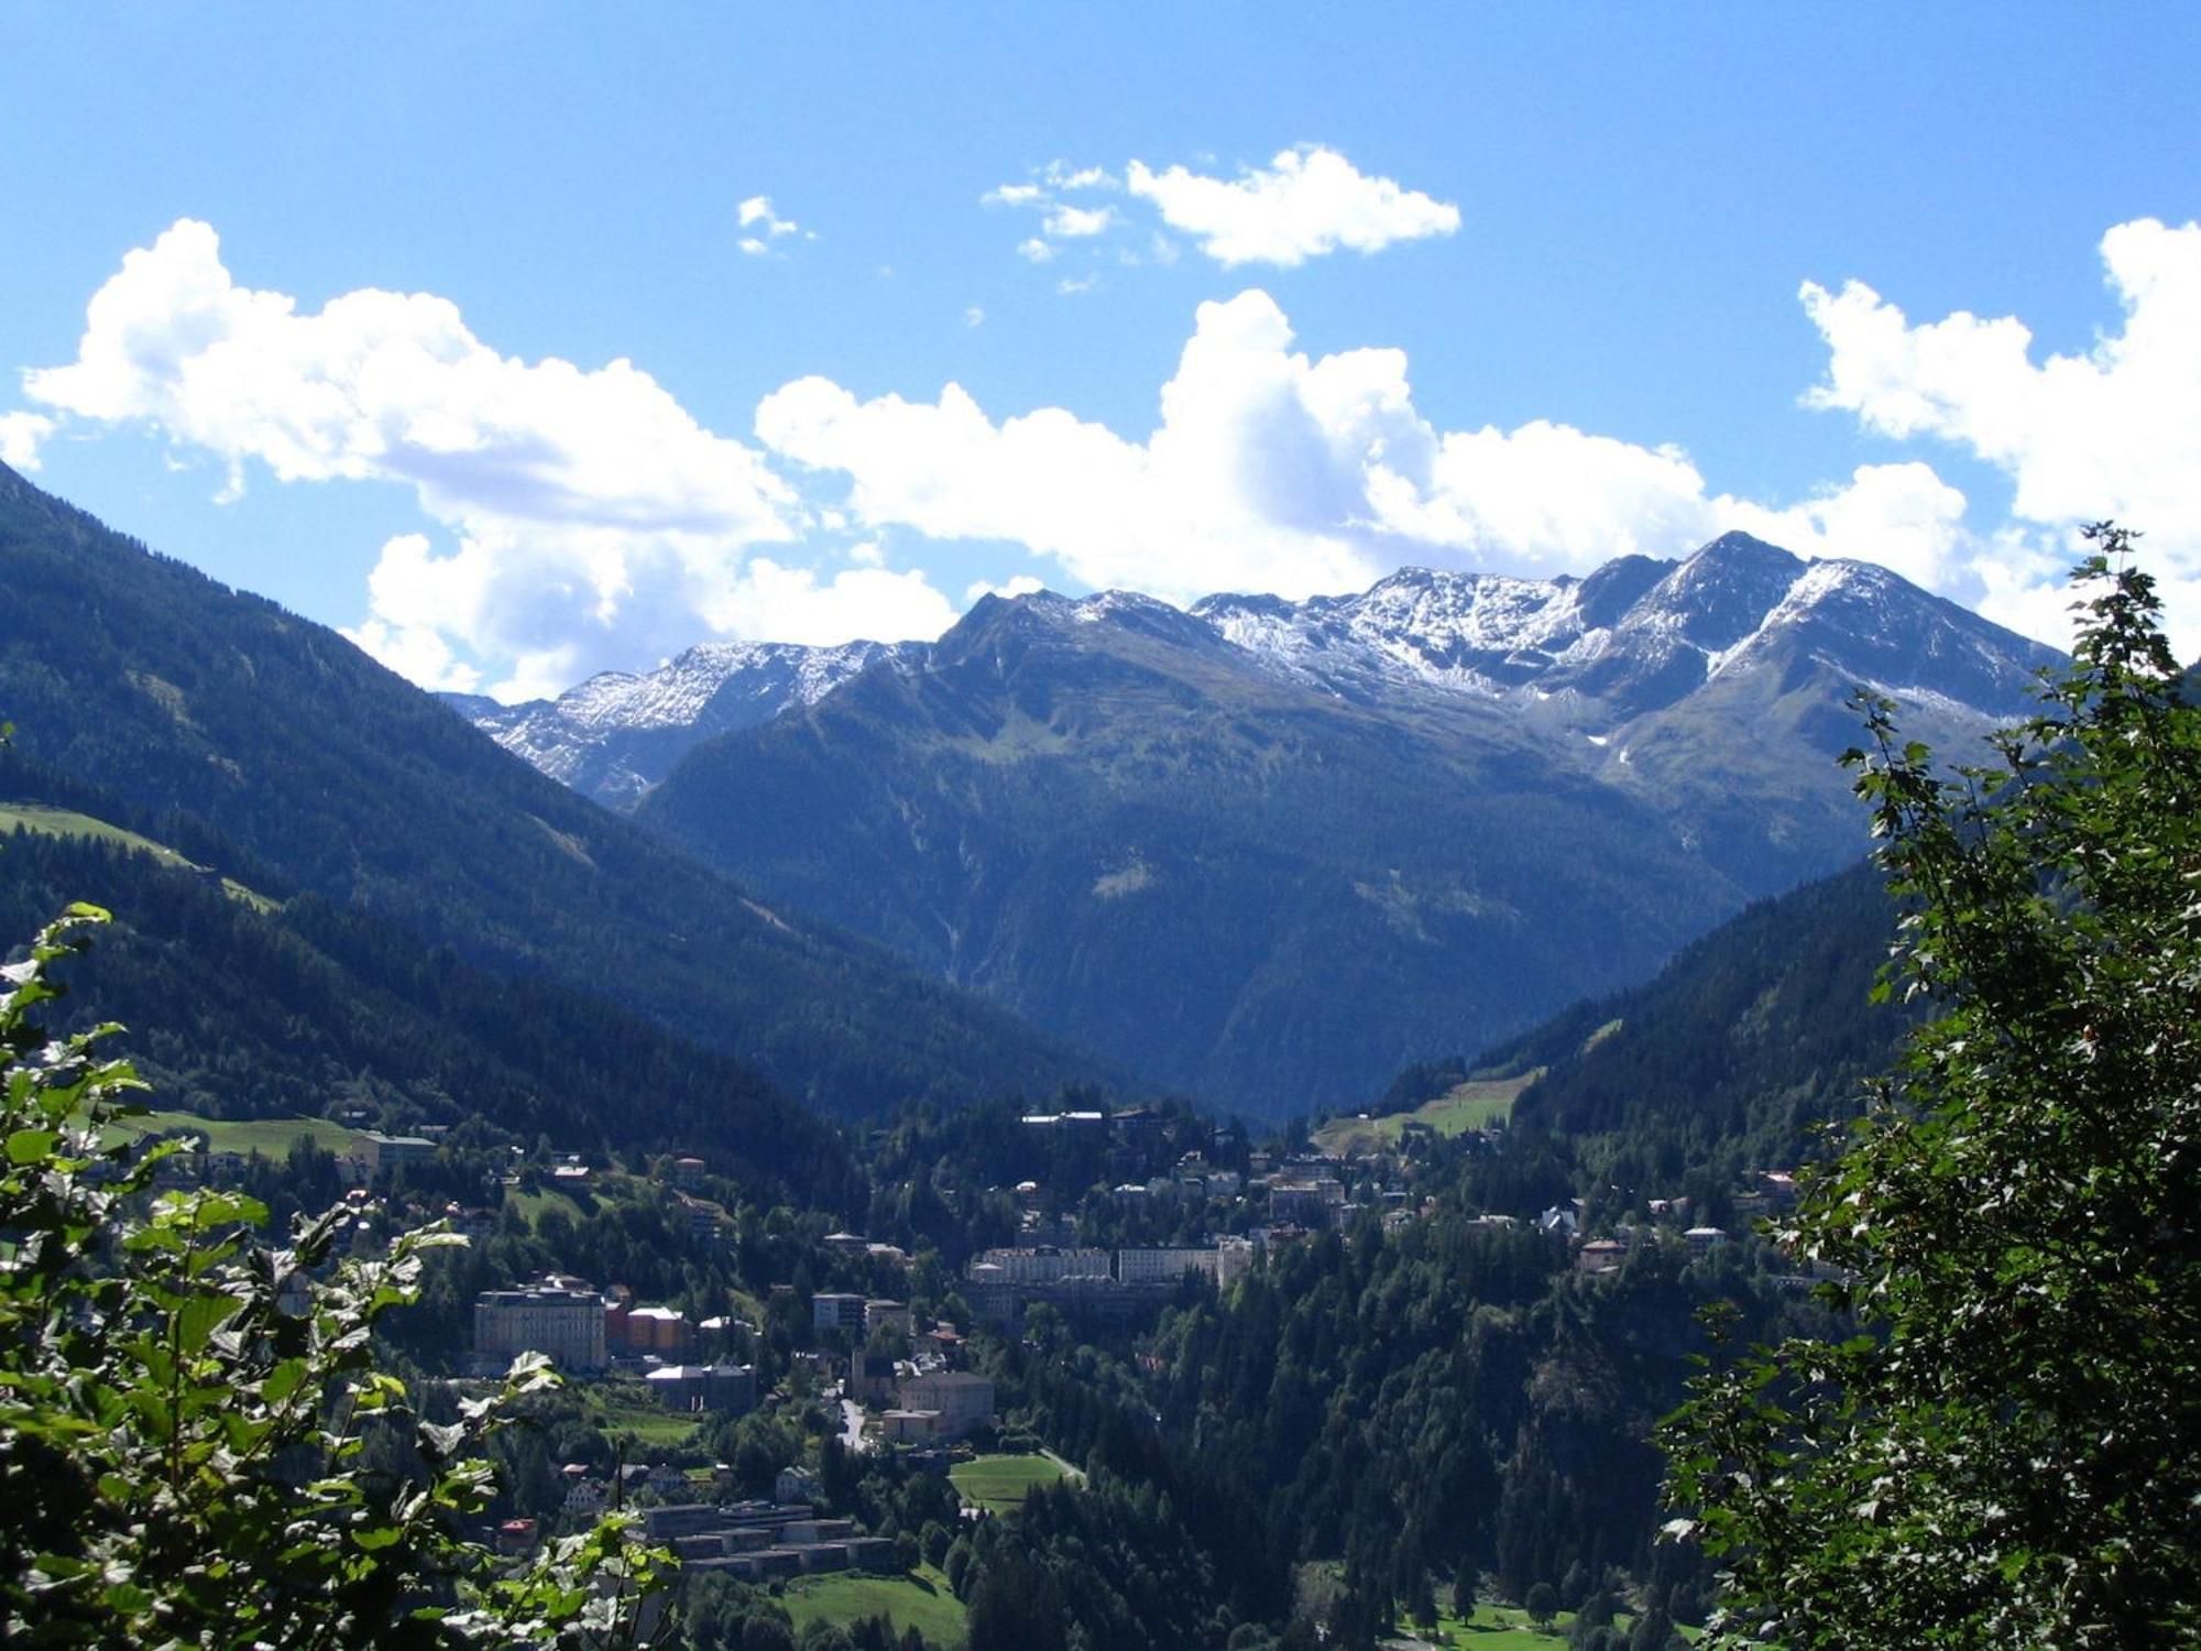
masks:
<path fill-rule="evenodd" d="M 1783 1242 L 1869 1334 L 1704 1376 L 1668 1530 L 1706 1644 L 2201 1642 L 2201 707 L 2128 535 L 2043 713 L 1853 753 L 1937 1017 Z"/>

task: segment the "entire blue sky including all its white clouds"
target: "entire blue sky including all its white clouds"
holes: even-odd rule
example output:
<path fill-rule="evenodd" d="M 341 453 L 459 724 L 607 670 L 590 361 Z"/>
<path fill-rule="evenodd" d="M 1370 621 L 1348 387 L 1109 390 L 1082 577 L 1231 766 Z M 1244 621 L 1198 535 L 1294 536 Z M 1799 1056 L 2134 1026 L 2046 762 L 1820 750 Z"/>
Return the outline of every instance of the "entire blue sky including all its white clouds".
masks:
<path fill-rule="evenodd" d="M 2054 636 L 2093 515 L 2194 652 L 2201 22 L 2111 18 L 15 4 L 0 456 L 506 696 L 1726 526 Z"/>

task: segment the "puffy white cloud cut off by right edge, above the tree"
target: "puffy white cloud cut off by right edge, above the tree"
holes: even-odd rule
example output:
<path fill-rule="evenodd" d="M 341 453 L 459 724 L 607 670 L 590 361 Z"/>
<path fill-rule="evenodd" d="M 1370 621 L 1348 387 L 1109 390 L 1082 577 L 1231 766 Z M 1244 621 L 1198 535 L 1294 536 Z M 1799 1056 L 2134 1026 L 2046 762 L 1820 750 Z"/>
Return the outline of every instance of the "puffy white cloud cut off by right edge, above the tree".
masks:
<path fill-rule="evenodd" d="M 1897 440 L 1950 442 L 2012 480 L 2018 522 L 1972 564 L 1992 616 L 2038 634 L 2056 612 L 2049 634 L 2065 634 L 2065 531 L 2117 517 L 2146 531 L 2172 634 L 2192 652 L 2201 647 L 2201 225 L 2117 225 L 2102 238 L 2102 264 L 2122 330 L 2038 363 L 2016 317 L 1959 310 L 1913 324 L 1864 282 L 1840 291 L 1805 282 L 1805 313 L 1829 350 L 1807 405 L 1855 414 Z"/>

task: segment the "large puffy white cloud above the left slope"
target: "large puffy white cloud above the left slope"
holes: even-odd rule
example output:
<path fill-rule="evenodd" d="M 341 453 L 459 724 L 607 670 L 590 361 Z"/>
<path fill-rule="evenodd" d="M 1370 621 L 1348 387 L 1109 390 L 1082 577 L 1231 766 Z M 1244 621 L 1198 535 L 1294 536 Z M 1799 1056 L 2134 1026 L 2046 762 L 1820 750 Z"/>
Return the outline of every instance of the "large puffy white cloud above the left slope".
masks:
<path fill-rule="evenodd" d="M 238 286 L 202 222 L 123 258 L 77 359 L 24 387 L 55 414 L 213 456 L 225 493 L 253 464 L 284 482 L 409 486 L 453 544 L 390 539 L 352 634 L 438 687 L 533 693 L 678 652 L 700 630 L 845 627 L 845 641 L 894 612 L 900 634 L 944 612 L 913 575 L 817 583 L 755 557 L 806 526 L 799 500 L 632 363 L 504 357 L 456 304 L 418 293 L 357 291 L 302 313 Z"/>

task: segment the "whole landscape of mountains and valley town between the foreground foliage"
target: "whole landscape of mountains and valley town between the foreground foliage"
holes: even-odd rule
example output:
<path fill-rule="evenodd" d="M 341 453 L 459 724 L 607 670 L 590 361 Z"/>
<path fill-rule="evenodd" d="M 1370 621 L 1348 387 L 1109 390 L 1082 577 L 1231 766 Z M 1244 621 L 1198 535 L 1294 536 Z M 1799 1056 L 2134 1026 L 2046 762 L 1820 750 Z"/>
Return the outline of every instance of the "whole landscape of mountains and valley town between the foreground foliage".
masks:
<path fill-rule="evenodd" d="M 718 1647 L 1706 1620 L 1660 1418 L 1849 1325 L 1767 1222 L 1917 1024 L 1847 685 L 1910 625 L 1976 740 L 2038 652 L 1721 539 L 986 597 L 599 682 L 579 748 L 0 480 L 0 918 L 117 914 L 46 964 L 152 1081 L 101 1140 L 352 1259 L 464 1239 L 379 1345 L 427 1415 L 559 1369 L 486 1543 L 632 1506 Z"/>

